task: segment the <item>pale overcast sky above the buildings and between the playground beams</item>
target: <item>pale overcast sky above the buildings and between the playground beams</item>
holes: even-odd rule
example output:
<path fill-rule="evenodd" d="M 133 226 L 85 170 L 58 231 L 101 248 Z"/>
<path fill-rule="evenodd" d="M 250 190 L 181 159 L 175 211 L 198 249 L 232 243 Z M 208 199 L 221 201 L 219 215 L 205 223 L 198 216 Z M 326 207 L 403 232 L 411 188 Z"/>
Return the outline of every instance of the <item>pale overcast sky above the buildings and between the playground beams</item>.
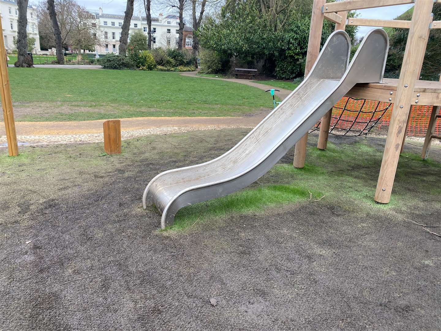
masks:
<path fill-rule="evenodd" d="M 37 0 L 37 1 L 46 1 L 46 0 Z M 369 0 L 366 0 L 369 1 Z M 34 2 L 30 0 L 30 2 Z M 126 0 L 77 0 L 78 4 L 86 7 L 90 10 L 98 10 L 98 8 L 103 8 L 103 11 L 107 14 L 120 14 L 123 15 L 126 10 Z M 398 6 L 389 6 L 389 7 L 381 7 L 381 8 L 370 8 L 370 9 L 362 9 L 358 12 L 360 13 L 360 17 L 365 19 L 394 19 L 396 16 L 404 13 L 407 9 L 411 8 L 413 4 L 400 4 Z M 152 16 L 157 16 L 159 14 L 160 8 L 152 9 Z M 141 10 L 142 14 L 145 15 L 142 0 L 135 0 L 135 10 L 134 15 L 138 15 L 138 11 Z M 373 29 L 371 26 L 360 26 L 357 37 L 360 38 L 364 36 L 369 30 Z"/>

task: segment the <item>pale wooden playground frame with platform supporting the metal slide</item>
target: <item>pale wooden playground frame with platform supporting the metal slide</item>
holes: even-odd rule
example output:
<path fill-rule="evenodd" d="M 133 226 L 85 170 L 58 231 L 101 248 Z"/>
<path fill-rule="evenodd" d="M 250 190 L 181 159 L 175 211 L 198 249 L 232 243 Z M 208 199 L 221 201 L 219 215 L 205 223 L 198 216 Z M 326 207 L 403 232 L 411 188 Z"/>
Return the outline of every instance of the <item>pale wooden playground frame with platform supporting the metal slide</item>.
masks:
<path fill-rule="evenodd" d="M 348 16 L 348 11 L 375 7 L 415 3 L 411 21 L 361 19 Z M 434 128 L 441 106 L 441 83 L 418 80 L 430 29 L 441 28 L 441 21 L 433 21 L 432 8 L 441 4 L 441 0 L 344 0 L 326 3 L 326 0 L 314 0 L 311 26 L 306 55 L 305 76 L 312 68 L 320 51 L 323 20 L 336 23 L 335 30 L 344 30 L 346 25 L 388 26 L 409 29 L 406 50 L 404 52 L 400 79 L 384 79 L 384 83 L 357 84 L 348 94 L 349 97 L 392 102 L 395 107 L 390 119 L 383 160 L 375 192 L 375 201 L 389 203 L 395 179 L 398 159 L 406 139 L 412 105 L 434 106 L 429 128 L 422 150 L 422 158 L 429 153 L 431 139 L 441 139 L 434 135 Z M 329 125 L 332 109 L 322 117 L 317 147 L 325 150 L 328 142 Z M 308 134 L 295 145 L 293 165 L 303 168 L 306 157 Z"/>

